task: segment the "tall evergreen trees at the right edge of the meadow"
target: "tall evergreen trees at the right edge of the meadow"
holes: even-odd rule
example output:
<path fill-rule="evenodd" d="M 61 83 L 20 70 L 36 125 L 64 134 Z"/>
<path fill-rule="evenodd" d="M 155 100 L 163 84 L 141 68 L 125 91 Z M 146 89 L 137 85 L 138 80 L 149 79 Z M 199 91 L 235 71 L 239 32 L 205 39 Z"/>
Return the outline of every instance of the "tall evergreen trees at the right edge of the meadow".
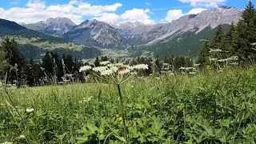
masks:
<path fill-rule="evenodd" d="M 201 66 L 227 63 L 245 66 L 256 60 L 256 10 L 249 1 L 242 18 L 235 26 L 224 33 L 222 26 L 218 26 L 213 40 L 202 40 L 202 47 L 198 54 L 197 63 Z"/>

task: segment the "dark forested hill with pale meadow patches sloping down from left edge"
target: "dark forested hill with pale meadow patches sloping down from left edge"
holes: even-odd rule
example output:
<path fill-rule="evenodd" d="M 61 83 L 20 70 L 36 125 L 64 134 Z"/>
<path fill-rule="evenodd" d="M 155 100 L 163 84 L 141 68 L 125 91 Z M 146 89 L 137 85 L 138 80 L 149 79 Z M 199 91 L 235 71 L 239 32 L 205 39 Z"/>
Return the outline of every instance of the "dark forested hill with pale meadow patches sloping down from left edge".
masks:
<path fill-rule="evenodd" d="M 58 54 L 71 54 L 81 59 L 94 58 L 102 54 L 93 46 L 78 45 L 64 38 L 29 30 L 16 22 L 0 18 L 0 42 L 6 36 L 15 38 L 25 58 L 39 59 L 49 50 Z"/>

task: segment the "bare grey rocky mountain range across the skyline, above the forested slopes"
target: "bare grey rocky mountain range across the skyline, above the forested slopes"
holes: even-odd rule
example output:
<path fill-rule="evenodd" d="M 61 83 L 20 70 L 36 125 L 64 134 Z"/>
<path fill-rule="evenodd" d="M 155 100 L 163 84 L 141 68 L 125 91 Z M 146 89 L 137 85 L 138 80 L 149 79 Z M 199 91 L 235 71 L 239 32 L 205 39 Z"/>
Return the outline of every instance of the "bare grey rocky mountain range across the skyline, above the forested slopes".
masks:
<path fill-rule="evenodd" d="M 238 22 L 242 10 L 234 7 L 218 7 L 213 10 L 204 10 L 199 14 L 185 15 L 170 23 L 145 25 L 141 22 L 124 22 L 118 25 L 109 25 L 97 20 L 86 20 L 75 25 L 68 18 L 50 18 L 46 22 L 37 22 L 24 25 L 28 29 L 38 30 L 44 34 L 58 35 L 79 44 L 100 46 L 105 48 L 127 47 L 131 44 L 150 45 L 164 38 L 174 37 L 193 31 L 219 25 Z"/>

